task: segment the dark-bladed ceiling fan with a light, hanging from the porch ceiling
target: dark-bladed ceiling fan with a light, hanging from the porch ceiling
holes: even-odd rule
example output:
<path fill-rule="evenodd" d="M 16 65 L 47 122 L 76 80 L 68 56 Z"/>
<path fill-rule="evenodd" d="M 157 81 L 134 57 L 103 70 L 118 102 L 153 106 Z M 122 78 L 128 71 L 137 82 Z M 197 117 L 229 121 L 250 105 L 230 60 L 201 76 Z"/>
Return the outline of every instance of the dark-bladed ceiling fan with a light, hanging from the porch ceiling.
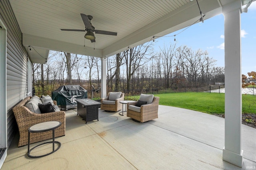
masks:
<path fill-rule="evenodd" d="M 82 20 L 84 21 L 84 26 L 85 29 L 61 29 L 62 31 L 84 31 L 86 34 L 84 35 L 84 38 L 90 39 L 92 43 L 96 42 L 95 41 L 95 35 L 96 34 L 105 34 L 105 35 L 117 35 L 116 32 L 111 32 L 111 31 L 102 31 L 102 30 L 97 30 L 92 26 L 91 20 L 92 16 L 87 16 L 85 14 L 80 14 L 82 17 Z"/>

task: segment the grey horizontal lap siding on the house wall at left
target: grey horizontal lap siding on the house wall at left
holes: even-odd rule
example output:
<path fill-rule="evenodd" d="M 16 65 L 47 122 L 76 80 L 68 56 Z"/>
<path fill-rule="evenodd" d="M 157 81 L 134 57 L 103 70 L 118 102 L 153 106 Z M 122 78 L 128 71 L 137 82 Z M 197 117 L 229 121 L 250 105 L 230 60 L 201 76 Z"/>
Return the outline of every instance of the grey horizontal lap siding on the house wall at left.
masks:
<path fill-rule="evenodd" d="M 18 133 L 12 108 L 27 96 L 27 53 L 22 45 L 22 33 L 9 0 L 0 0 L 0 19 L 6 25 L 6 106 L 7 142 Z"/>

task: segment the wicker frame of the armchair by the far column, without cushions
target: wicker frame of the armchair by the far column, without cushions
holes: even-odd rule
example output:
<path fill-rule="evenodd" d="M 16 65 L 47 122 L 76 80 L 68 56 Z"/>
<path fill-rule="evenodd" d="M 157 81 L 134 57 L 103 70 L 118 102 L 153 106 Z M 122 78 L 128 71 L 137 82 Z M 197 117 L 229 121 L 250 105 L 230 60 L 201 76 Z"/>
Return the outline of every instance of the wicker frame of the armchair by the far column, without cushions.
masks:
<path fill-rule="evenodd" d="M 108 100 L 109 95 L 110 95 L 110 93 L 108 93 L 108 96 L 106 98 L 101 98 L 100 109 L 101 110 L 106 110 L 106 111 L 118 111 L 118 110 L 121 110 L 122 109 L 122 104 L 120 103 L 120 101 L 124 100 L 124 93 L 121 93 L 120 98 L 116 99 L 115 101 L 110 101 L 109 104 L 103 104 L 104 100 L 105 101 Z"/>

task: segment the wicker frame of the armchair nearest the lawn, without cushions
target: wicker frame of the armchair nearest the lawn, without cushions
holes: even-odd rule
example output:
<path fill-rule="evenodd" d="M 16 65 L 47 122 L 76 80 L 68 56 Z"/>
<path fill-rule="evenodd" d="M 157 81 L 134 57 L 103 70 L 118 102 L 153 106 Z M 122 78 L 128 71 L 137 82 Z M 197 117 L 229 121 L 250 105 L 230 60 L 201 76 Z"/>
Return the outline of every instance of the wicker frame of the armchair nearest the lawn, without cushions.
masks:
<path fill-rule="evenodd" d="M 135 106 L 136 103 L 137 102 L 129 102 L 127 104 L 127 117 L 131 117 L 132 119 L 140 121 L 141 123 L 158 118 L 159 97 L 154 97 L 151 104 L 141 105 L 140 112 L 129 109 L 130 105 Z"/>

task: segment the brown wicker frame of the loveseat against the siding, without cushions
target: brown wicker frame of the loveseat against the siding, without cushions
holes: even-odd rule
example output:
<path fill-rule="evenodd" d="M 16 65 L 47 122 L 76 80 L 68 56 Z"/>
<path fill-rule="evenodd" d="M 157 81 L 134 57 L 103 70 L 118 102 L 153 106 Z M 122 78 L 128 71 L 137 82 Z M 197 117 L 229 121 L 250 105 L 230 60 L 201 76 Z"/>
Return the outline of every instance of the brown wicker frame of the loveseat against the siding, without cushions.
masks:
<path fill-rule="evenodd" d="M 46 121 L 60 121 L 62 124 L 60 127 L 55 129 L 55 137 L 64 136 L 66 132 L 66 116 L 64 111 L 55 111 L 51 113 L 33 113 L 30 111 L 26 104 L 32 98 L 31 96 L 26 97 L 15 107 L 12 108 L 18 128 L 20 133 L 20 139 L 18 147 L 22 147 L 28 144 L 28 128 L 37 123 L 42 123 Z M 56 105 L 57 102 L 53 101 Z M 42 132 L 42 133 L 31 133 L 30 143 L 35 143 L 38 141 L 44 141 L 46 139 L 52 138 L 52 131 Z"/>

